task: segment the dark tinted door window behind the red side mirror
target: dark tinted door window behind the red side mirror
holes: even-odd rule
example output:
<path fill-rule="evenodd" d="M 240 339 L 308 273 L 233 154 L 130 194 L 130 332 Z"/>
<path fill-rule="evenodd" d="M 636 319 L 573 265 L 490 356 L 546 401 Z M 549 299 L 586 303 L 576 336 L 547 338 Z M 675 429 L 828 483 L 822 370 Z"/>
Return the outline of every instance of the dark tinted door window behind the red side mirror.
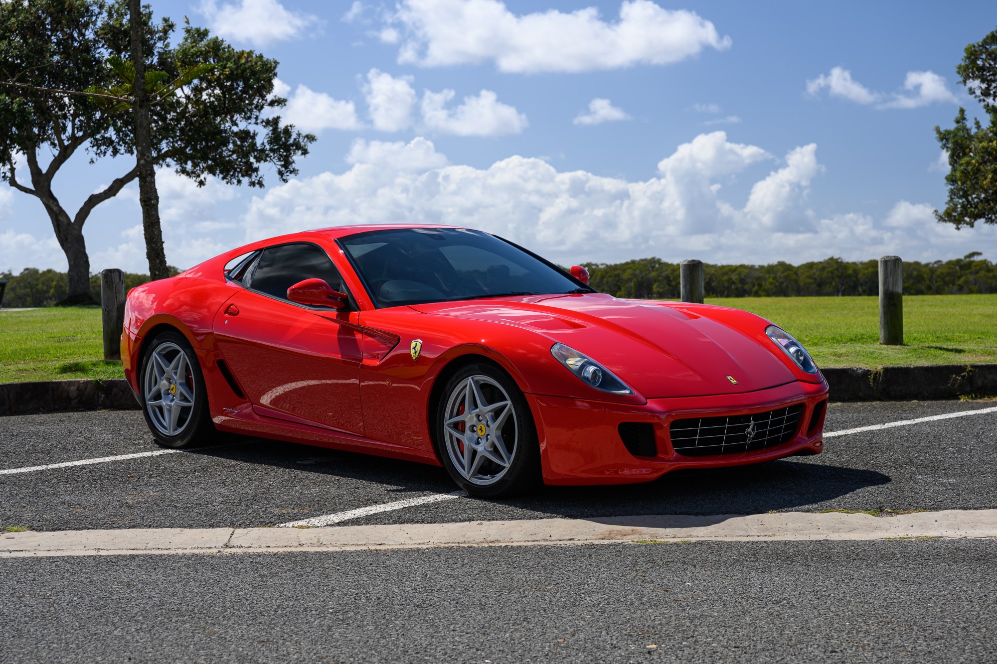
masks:
<path fill-rule="evenodd" d="M 339 270 L 321 248 L 314 244 L 282 244 L 263 250 L 253 268 L 249 287 L 286 300 L 288 288 L 314 278 L 325 280 L 334 290 L 344 289 Z"/>

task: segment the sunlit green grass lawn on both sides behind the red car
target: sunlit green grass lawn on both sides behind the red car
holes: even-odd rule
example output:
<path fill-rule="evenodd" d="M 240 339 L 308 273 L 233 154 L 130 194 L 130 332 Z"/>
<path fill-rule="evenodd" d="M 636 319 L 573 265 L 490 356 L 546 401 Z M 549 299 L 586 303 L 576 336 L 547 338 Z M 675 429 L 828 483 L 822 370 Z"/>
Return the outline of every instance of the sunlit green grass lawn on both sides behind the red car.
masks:
<path fill-rule="evenodd" d="M 997 295 L 903 298 L 905 346 L 880 346 L 875 297 L 743 297 L 709 304 L 746 309 L 785 328 L 823 367 L 997 362 Z M 122 378 L 105 362 L 101 310 L 0 309 L 0 383 Z"/>

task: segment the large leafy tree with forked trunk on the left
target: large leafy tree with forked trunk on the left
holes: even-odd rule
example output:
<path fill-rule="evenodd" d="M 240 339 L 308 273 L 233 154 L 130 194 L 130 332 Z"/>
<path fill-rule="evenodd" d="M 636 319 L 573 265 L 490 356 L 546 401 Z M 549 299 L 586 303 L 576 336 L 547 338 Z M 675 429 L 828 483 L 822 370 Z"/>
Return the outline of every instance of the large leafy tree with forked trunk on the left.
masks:
<path fill-rule="evenodd" d="M 210 71 L 150 106 L 152 166 L 172 167 L 198 185 L 211 175 L 262 186 L 264 165 L 282 181 L 296 174 L 295 160 L 308 154 L 315 137 L 275 114 L 287 103 L 273 96 L 277 62 L 189 24 L 172 46 L 174 28 L 166 18 L 154 23 L 152 11 L 144 8 L 142 65 L 149 63 L 168 80 L 200 64 L 210 65 Z M 44 205 L 69 263 L 66 303 L 91 300 L 83 237 L 88 216 L 136 179 L 140 167 L 136 163 L 90 195 L 72 216 L 52 180 L 81 148 L 91 161 L 136 155 L 133 114 L 96 103 L 101 97 L 93 90 L 120 83 L 108 61 L 130 58 L 132 43 L 126 0 L 0 2 L 0 177 Z M 43 165 L 46 154 L 51 160 Z M 30 186 L 17 178 L 19 156 L 27 163 Z"/>

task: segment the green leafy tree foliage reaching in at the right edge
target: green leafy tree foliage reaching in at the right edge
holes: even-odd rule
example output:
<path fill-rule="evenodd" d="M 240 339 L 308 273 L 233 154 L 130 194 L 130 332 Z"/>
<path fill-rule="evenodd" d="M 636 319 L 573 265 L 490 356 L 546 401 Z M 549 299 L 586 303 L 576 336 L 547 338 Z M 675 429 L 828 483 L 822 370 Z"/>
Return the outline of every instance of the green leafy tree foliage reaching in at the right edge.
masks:
<path fill-rule="evenodd" d="M 956 228 L 973 227 L 977 221 L 997 223 L 997 30 L 967 46 L 955 71 L 990 117 L 990 125 L 984 127 L 978 119 L 970 125 L 960 108 L 955 127 L 935 127 L 949 165 L 948 199 L 944 210 L 935 210 L 935 218 Z"/>

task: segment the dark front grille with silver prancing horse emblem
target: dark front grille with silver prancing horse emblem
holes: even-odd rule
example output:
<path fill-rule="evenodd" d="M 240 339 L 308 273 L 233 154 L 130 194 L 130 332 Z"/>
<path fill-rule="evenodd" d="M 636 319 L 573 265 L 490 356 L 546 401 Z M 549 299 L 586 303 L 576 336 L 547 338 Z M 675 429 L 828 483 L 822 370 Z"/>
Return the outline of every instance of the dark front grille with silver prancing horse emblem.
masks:
<path fill-rule="evenodd" d="M 752 452 L 782 445 L 800 426 L 804 405 L 768 413 L 719 418 L 689 418 L 672 423 L 672 449 L 685 457 Z"/>

